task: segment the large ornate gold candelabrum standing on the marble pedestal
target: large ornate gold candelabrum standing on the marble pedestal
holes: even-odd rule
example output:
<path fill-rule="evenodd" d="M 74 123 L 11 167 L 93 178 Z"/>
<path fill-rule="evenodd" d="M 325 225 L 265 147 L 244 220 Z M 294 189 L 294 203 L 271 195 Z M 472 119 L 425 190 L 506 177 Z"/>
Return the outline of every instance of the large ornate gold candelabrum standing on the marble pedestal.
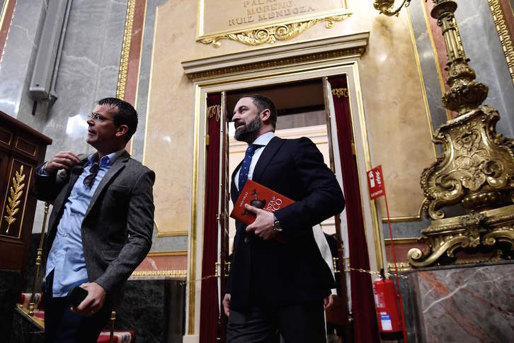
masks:
<path fill-rule="evenodd" d="M 392 15 L 384 9 L 393 2 L 376 1 L 375 5 L 380 3 L 380 11 Z M 423 210 L 432 223 L 421 231 L 420 242 L 426 243 L 428 250 L 410 249 L 409 263 L 452 263 L 457 249 L 473 253 L 498 247 L 502 257 L 510 259 L 509 251 L 514 250 L 514 140 L 496 133 L 498 111 L 479 107 L 489 89 L 474 81 L 476 75 L 469 67 L 455 21 L 457 3 L 433 2 L 430 14 L 442 28 L 448 59 L 446 81 L 450 90 L 442 96 L 442 103 L 458 114 L 441 125 L 433 137 L 435 144 L 442 145 L 442 155 L 421 174 L 426 196 Z M 442 208 L 456 204 L 467 214 L 445 218 Z"/>

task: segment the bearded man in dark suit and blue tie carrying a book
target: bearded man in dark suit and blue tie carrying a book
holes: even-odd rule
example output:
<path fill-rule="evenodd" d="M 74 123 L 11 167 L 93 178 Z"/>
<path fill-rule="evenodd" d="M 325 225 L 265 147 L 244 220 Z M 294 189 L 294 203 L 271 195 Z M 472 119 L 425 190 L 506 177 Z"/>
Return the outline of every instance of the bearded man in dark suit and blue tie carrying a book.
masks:
<path fill-rule="evenodd" d="M 344 198 L 316 145 L 306 137 L 275 137 L 277 111 L 270 99 L 244 96 L 234 108 L 234 137 L 249 144 L 232 175 L 236 201 L 246 179 L 295 201 L 236 222 L 234 253 L 224 296 L 227 342 L 326 342 L 324 298 L 335 283 L 316 245 L 313 225 L 341 213 Z"/>

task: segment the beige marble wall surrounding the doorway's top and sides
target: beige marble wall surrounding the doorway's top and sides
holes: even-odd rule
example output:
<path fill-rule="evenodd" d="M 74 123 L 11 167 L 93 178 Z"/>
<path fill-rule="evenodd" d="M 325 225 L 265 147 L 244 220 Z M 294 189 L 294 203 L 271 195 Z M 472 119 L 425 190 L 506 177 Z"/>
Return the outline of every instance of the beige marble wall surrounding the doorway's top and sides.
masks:
<path fill-rule="evenodd" d="M 219 4 L 225 11 L 222 0 Z M 348 4 L 352 16 L 333 28 L 318 23 L 275 45 L 370 31 L 360 81 L 373 164 L 382 164 L 392 217 L 417 215 L 423 199 L 419 176 L 434 152 L 408 14 L 387 18 L 372 1 Z M 159 232 L 189 225 L 195 92 L 181 62 L 259 48 L 231 40 L 222 40 L 219 48 L 196 43 L 197 21 L 197 3 L 191 0 L 169 0 L 156 18 L 144 163 L 157 173 Z"/>

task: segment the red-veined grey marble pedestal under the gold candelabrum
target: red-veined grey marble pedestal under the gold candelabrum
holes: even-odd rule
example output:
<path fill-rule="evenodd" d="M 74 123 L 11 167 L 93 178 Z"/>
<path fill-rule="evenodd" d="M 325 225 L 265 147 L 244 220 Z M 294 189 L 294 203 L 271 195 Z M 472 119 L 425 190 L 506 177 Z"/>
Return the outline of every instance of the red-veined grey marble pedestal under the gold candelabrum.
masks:
<path fill-rule="evenodd" d="M 409 274 L 421 342 L 512 342 L 514 263 Z"/>

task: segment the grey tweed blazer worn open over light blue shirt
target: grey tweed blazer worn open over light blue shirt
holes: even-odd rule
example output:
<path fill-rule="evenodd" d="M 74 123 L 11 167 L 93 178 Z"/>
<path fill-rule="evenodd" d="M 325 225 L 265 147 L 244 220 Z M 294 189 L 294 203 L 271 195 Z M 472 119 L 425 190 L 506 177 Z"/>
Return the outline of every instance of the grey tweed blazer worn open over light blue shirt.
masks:
<path fill-rule="evenodd" d="M 87 157 L 71 172 L 59 171 L 54 177 L 36 173 L 34 186 L 38 198 L 53 201 L 46 255 L 55 239 L 64 204 L 86 164 Z M 82 221 L 89 282 L 102 286 L 115 305 L 122 298 L 125 281 L 152 246 L 154 181 L 154 171 L 123 152 L 98 184 Z"/>

